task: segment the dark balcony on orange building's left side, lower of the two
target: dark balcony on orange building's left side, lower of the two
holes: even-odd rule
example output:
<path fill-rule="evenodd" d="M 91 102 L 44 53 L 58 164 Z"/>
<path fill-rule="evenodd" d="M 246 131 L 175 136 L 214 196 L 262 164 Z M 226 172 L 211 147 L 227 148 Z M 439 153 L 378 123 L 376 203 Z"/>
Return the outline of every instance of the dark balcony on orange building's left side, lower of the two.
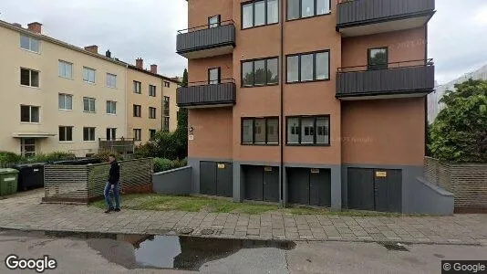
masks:
<path fill-rule="evenodd" d="M 178 107 L 218 108 L 235 104 L 236 87 L 233 79 L 222 79 L 220 83 L 192 82 L 189 87 L 179 88 L 176 93 Z"/>

